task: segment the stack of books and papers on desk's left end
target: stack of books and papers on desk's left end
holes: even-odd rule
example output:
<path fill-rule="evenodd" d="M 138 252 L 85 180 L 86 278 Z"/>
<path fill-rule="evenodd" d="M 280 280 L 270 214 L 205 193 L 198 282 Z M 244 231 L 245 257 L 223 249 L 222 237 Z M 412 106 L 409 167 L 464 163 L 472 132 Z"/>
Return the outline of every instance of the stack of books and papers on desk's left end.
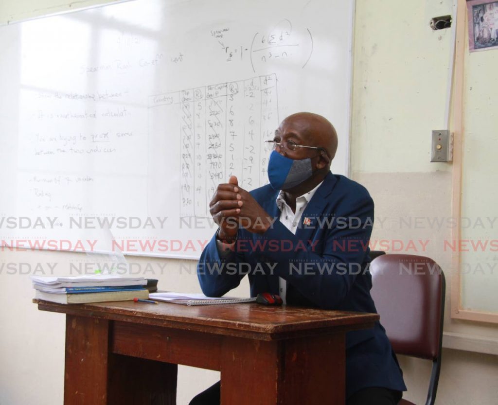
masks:
<path fill-rule="evenodd" d="M 31 275 L 35 298 L 60 304 L 130 301 L 147 299 L 147 279 L 115 274 L 91 274 L 67 277 Z"/>

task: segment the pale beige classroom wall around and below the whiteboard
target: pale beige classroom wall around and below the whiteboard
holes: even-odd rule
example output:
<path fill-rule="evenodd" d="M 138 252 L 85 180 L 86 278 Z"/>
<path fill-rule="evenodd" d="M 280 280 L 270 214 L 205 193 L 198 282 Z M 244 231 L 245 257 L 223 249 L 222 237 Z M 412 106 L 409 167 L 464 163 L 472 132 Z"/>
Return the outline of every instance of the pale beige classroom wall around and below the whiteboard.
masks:
<path fill-rule="evenodd" d="M 103 2 L 106 1 L 76 4 Z M 60 3 L 3 0 L 0 24 L 70 9 Z M 400 225 L 399 218 L 451 215 L 452 166 L 428 162 L 430 131 L 445 127 L 451 35 L 449 30 L 433 32 L 428 21 L 433 16 L 451 13 L 452 1 L 357 0 L 356 8 L 351 173 L 369 188 L 375 200 L 380 220 L 376 222 L 373 240 L 430 240 L 425 252 L 420 249 L 412 253 L 434 258 L 446 271 L 449 286 L 451 258 L 439 245 L 450 238 L 450 230 L 407 228 Z M 493 77 L 498 52 L 489 51 L 482 58 L 486 58 L 486 64 L 473 65 L 474 70 L 466 74 Z M 473 81 L 474 77 L 468 80 Z M 479 114 L 492 114 L 493 107 L 488 102 L 479 98 L 473 102 Z M 474 113 L 468 114 L 472 122 Z M 477 121 L 477 125 L 484 126 L 482 130 L 491 132 L 496 128 L 484 125 L 486 119 Z M 491 170 L 496 172 L 496 161 L 489 163 L 495 165 Z M 47 263 L 59 263 L 57 269 L 62 270 L 81 256 L 4 252 L 0 258 L 3 263 L 23 263 L 27 271 L 38 263 L 45 268 Z M 129 261 L 150 264 L 162 288 L 199 290 L 192 262 L 144 258 Z M 180 271 L 182 264 L 191 266 L 192 272 Z M 239 294 L 245 295 L 247 281 L 239 288 Z M 14 274 L 5 270 L 0 273 L 1 405 L 62 404 L 64 317 L 37 311 L 30 303 L 32 295 L 28 276 L 20 274 L 19 268 Z M 448 313 L 445 331 L 464 338 L 481 337 L 491 345 L 498 338 L 495 325 L 451 320 Z M 496 404 L 497 356 L 453 349 L 445 349 L 443 356 L 439 404 Z M 400 360 L 409 388 L 405 397 L 423 403 L 429 365 L 420 360 Z M 192 395 L 218 377 L 215 372 L 181 367 L 178 404 L 188 403 Z"/>

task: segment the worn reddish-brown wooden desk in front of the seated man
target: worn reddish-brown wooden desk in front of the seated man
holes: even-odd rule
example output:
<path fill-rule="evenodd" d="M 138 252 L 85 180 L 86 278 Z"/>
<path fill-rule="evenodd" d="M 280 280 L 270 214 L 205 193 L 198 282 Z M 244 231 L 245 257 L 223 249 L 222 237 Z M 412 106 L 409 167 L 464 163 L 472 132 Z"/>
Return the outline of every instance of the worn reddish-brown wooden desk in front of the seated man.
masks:
<path fill-rule="evenodd" d="M 67 314 L 65 405 L 176 404 L 177 364 L 221 371 L 222 405 L 344 405 L 345 333 L 378 319 L 252 303 L 34 302 Z"/>

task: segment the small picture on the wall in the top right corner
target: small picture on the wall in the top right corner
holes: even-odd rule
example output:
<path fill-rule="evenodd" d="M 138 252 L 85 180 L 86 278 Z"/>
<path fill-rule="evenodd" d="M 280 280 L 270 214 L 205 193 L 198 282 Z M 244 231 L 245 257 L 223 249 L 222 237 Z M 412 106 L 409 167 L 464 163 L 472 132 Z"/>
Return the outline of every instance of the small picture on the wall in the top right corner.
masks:
<path fill-rule="evenodd" d="M 498 1 L 467 0 L 469 50 L 498 48 Z"/>

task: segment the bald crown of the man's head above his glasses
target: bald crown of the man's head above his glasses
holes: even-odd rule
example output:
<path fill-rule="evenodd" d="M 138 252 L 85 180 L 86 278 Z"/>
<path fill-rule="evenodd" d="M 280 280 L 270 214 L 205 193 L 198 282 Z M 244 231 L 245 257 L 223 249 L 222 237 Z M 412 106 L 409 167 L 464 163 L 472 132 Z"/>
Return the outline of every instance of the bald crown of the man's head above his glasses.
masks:
<path fill-rule="evenodd" d="M 309 146 L 323 147 L 332 160 L 337 151 L 337 133 L 334 126 L 324 117 L 313 113 L 296 113 L 280 124 L 280 129 L 292 127 L 299 131 Z"/>

